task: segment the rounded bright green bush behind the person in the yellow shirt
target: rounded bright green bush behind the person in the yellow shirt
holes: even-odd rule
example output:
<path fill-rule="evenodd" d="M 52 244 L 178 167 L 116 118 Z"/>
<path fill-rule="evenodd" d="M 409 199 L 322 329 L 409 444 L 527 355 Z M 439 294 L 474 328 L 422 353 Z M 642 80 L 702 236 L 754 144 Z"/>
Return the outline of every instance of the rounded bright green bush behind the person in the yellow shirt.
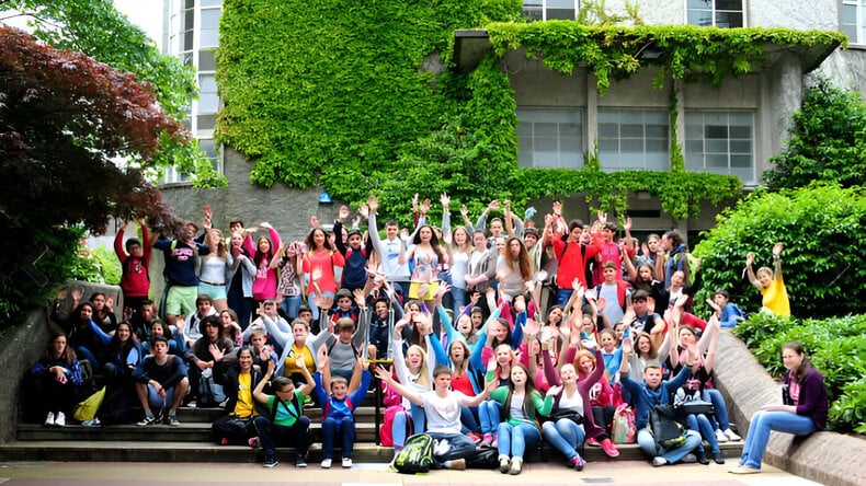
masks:
<path fill-rule="evenodd" d="M 774 242 L 783 242 L 782 270 L 791 314 L 829 317 L 866 312 L 866 198 L 861 187 L 812 185 L 768 193 L 759 189 L 718 217 L 718 225 L 704 233 L 694 253 L 704 258 L 703 290 L 729 289 L 743 309 L 756 311 L 761 296 L 743 278 L 745 255 L 755 253 L 755 266 L 772 264 Z"/>

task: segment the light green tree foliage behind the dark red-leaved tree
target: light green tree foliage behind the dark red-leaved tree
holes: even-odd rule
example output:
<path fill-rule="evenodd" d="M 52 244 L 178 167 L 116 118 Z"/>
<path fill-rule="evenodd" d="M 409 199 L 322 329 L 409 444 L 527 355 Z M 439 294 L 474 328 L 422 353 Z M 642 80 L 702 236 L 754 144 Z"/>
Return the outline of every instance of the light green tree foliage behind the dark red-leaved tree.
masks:
<path fill-rule="evenodd" d="M 111 0 L 0 0 L 0 10 L 18 11 L 5 19 L 27 19 L 33 35 L 57 49 L 84 54 L 150 83 L 157 101 L 172 118 L 183 119 L 190 103 L 198 96 L 195 69 L 174 56 L 160 54 L 156 43 Z M 166 167 L 176 166 L 193 174 L 196 186 L 226 185 L 194 139 L 179 143 L 164 138 L 160 150 L 148 157 L 144 161 L 133 154 L 129 163 L 152 178 Z"/>

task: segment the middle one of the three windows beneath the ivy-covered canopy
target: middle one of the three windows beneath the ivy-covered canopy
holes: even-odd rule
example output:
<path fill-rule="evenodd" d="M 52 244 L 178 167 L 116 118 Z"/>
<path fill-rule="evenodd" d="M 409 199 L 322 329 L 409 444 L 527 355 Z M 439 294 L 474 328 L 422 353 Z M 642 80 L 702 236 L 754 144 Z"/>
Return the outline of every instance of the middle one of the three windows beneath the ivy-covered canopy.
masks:
<path fill-rule="evenodd" d="M 599 109 L 599 162 L 605 171 L 666 171 L 669 117 L 661 109 Z"/>

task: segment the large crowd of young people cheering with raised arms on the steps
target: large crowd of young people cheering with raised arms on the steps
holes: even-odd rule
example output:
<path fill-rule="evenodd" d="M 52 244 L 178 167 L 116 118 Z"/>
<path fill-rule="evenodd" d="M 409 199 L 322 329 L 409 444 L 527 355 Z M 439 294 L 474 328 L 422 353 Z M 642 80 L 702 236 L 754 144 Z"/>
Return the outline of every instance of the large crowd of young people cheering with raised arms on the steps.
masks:
<path fill-rule="evenodd" d="M 223 407 L 214 440 L 261 448 L 269 467 L 281 445 L 307 465 L 304 408 L 314 406 L 322 409 L 321 466 L 331 467 L 338 447 L 351 467 L 353 414 L 371 386 L 383 387 L 388 407 L 383 442 L 397 458 L 410 431 L 426 433 L 434 467 L 464 468 L 494 450 L 499 471 L 520 474 L 546 441 L 581 471 L 585 445 L 618 456 L 625 407 L 653 466 L 725 462 L 719 443 L 740 437 L 710 373 L 721 329 L 742 312 L 719 289 L 711 314 L 695 314 L 699 261 L 676 230 L 641 244 L 626 219 L 617 239 L 604 212 L 589 224 L 567 221 L 559 202 L 536 227 L 508 200 L 491 201 L 475 223 L 462 207 L 464 224 L 454 228 L 448 196 L 440 201 L 441 225 L 430 220 L 431 201 L 415 197 L 414 227 L 387 220 L 384 235 L 375 196 L 352 220 L 341 207 L 332 231 L 311 218 L 303 241 L 283 240 L 266 222 L 231 221 L 224 236 L 209 208 L 204 231 L 189 222 L 175 238 L 152 238 L 139 221 L 140 240 L 118 232 L 123 317 L 112 298 L 81 301 L 80 291 L 68 315 L 54 314 L 59 329 L 31 370 L 45 425 L 66 425 L 87 360 L 107 389 L 88 425 L 132 409 L 139 426 L 176 426 L 181 406 Z M 164 256 L 161 311 L 148 299 L 151 247 Z M 773 248 L 774 268 L 754 274 L 752 254 L 747 266 L 764 308 L 785 314 L 782 250 Z M 754 417 L 732 472 L 760 471 L 771 429 L 824 426 L 820 373 L 798 344 L 782 357 L 785 405 Z M 648 427 L 668 405 L 680 440 L 661 441 Z"/>

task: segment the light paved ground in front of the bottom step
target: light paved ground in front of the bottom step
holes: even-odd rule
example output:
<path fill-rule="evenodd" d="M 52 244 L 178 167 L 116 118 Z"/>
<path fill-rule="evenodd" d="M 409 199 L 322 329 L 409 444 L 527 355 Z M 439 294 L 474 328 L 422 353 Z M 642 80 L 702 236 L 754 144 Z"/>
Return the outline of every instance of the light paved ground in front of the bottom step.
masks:
<path fill-rule="evenodd" d="M 800 477 L 771 466 L 751 476 L 728 474 L 728 464 L 681 464 L 651 467 L 643 461 L 590 463 L 582 472 L 558 464 L 527 464 L 519 476 L 494 471 L 435 471 L 407 476 L 385 471 L 385 464 L 357 464 L 352 470 L 321 470 L 310 465 L 296 470 L 281 463 L 273 468 L 260 464 L 225 463 L 0 463 L 2 486 L 156 486 L 156 485 L 229 485 L 267 484 L 293 486 L 398 486 L 398 485 L 506 485 L 571 486 L 581 484 L 617 484 L 645 486 L 814 486 Z M 170 475 L 171 477 L 167 477 Z"/>

